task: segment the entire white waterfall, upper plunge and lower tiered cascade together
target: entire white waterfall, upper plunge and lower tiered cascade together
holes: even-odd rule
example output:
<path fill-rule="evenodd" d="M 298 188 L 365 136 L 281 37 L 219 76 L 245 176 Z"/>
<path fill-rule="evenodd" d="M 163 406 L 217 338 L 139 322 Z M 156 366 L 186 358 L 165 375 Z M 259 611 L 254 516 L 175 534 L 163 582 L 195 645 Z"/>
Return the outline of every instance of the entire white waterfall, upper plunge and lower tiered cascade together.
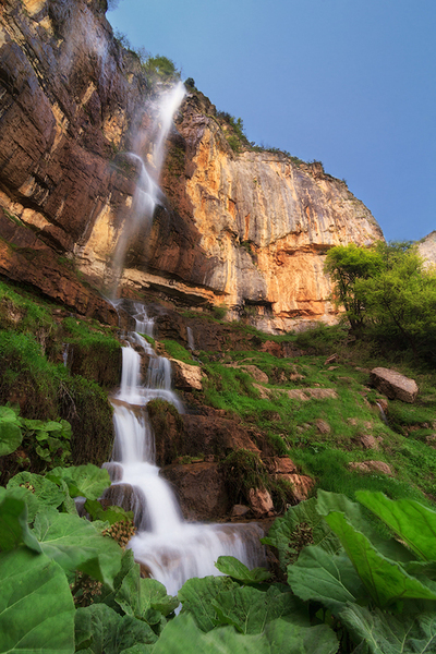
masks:
<path fill-rule="evenodd" d="M 156 205 L 164 202 L 158 183 L 165 143 L 172 117 L 184 94 L 184 86 L 178 84 L 161 96 L 153 128 L 146 134 L 138 135 L 136 152 L 124 155 L 137 165 L 138 181 L 131 216 L 117 244 L 113 263 L 117 286 L 132 235 L 140 226 L 150 226 Z M 137 152 L 147 152 L 146 140 L 149 142 L 148 155 L 144 160 Z M 147 317 L 143 305 L 133 304 L 133 307 L 136 328 L 128 335 L 123 348 L 121 387 L 112 399 L 116 441 L 112 462 L 106 464 L 112 477 L 109 492 L 114 504 L 128 504 L 134 512 L 138 532 L 130 546 L 135 559 L 143 564 L 152 577 L 161 581 L 170 594 L 174 594 L 191 577 L 217 574 L 214 562 L 220 555 L 235 556 L 251 568 L 262 565 L 262 530 L 255 524 L 204 525 L 184 522 L 171 487 L 159 476 L 159 469 L 155 465 L 154 435 L 144 407 L 150 400 L 161 398 L 171 402 L 179 412 L 183 408 L 171 391 L 169 361 L 157 356 L 142 336 L 153 336 L 153 320 Z M 194 348 L 192 332 L 190 346 Z M 138 350 L 149 361 L 145 375 L 141 370 Z"/>

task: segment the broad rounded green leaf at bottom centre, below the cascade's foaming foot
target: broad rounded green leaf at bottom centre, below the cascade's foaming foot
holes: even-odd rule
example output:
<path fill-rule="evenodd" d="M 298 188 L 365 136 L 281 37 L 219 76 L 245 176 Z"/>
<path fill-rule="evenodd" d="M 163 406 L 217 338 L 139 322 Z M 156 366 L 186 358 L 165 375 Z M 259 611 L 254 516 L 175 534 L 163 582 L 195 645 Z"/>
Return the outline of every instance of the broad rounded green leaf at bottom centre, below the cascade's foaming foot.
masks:
<path fill-rule="evenodd" d="M 235 627 L 241 633 L 262 633 L 268 622 L 291 615 L 292 622 L 310 626 L 302 603 L 292 593 L 283 593 L 274 585 L 267 592 L 251 586 L 222 591 L 213 605 L 221 622 Z"/>

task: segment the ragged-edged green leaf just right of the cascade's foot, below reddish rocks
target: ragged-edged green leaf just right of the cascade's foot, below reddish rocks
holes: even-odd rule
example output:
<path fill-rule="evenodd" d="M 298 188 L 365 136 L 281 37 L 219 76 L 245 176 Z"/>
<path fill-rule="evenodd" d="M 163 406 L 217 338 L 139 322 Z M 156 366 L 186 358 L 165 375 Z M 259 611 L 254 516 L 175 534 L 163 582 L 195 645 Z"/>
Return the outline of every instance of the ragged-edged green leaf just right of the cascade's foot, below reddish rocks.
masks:
<path fill-rule="evenodd" d="M 307 543 L 304 542 L 304 535 L 310 537 Z M 268 537 L 263 538 L 262 542 L 277 547 L 282 570 L 296 559 L 305 544 L 320 545 L 331 554 L 340 547 L 337 536 L 317 512 L 315 497 L 290 507 L 284 516 L 277 518 L 268 532 Z"/>

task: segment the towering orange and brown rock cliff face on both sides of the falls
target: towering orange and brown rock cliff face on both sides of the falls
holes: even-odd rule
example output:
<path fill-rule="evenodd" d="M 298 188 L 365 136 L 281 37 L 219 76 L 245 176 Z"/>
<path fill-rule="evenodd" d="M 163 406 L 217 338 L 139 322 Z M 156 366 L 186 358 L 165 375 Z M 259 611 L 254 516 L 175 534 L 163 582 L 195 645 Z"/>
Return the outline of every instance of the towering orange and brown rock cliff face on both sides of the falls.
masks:
<path fill-rule="evenodd" d="M 132 219 L 137 170 L 123 153 L 146 134 L 155 96 L 140 61 L 113 40 L 101 4 L 5 0 L 0 8 L 0 233 L 14 232 L 7 241 L 15 251 L 24 242 L 45 249 L 47 262 L 49 251 L 74 255 L 104 288 Z M 226 304 L 230 316 L 245 312 L 267 329 L 331 319 L 326 251 L 383 238 L 346 184 L 319 165 L 233 153 L 197 93 L 168 145 L 166 199 L 152 228 L 132 234 L 125 287 L 187 305 Z M 20 221 L 13 229 L 11 217 Z M 10 270 L 5 254 L 0 272 Z"/>

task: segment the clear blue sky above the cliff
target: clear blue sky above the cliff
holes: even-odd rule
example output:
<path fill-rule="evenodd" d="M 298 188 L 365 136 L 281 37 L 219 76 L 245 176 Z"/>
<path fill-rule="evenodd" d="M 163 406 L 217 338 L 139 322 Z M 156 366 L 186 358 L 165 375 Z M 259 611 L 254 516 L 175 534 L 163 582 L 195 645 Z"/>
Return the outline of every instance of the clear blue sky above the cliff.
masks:
<path fill-rule="evenodd" d="M 120 0 L 250 141 L 323 161 L 387 240 L 436 229 L 436 0 Z"/>

